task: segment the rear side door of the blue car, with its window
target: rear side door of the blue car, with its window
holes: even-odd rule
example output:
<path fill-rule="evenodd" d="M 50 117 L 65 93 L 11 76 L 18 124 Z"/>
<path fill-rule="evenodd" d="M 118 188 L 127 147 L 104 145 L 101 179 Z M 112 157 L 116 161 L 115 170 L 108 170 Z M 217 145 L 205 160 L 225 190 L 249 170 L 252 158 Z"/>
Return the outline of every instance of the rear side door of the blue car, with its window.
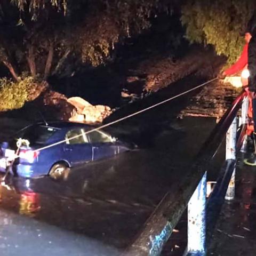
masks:
<path fill-rule="evenodd" d="M 83 128 L 70 129 L 65 136 L 65 157 L 74 166 L 92 161 L 92 145 Z"/>

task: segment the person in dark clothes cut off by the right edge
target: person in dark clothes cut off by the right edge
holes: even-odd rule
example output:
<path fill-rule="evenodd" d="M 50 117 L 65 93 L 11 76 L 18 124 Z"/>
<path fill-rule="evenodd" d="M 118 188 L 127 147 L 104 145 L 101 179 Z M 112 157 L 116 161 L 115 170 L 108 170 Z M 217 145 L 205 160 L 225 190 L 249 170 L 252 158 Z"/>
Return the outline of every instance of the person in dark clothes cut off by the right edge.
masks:
<path fill-rule="evenodd" d="M 253 108 L 253 121 L 256 124 L 256 15 L 253 15 L 249 22 L 252 38 L 248 46 L 248 70 L 249 70 L 249 91 L 252 98 Z M 254 127 L 254 146 L 256 149 L 256 129 Z M 244 159 L 244 163 L 251 166 L 256 166 L 256 150 L 254 154 L 247 159 Z"/>

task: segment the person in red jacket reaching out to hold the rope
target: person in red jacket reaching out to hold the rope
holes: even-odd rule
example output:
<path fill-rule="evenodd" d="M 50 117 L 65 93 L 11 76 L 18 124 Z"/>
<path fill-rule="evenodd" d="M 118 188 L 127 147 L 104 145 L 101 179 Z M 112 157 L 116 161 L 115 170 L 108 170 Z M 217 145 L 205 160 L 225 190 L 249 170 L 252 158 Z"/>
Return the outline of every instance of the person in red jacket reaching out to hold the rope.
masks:
<path fill-rule="evenodd" d="M 250 22 L 249 22 L 250 23 Z M 239 57 L 239 59 L 234 63 L 234 65 L 232 65 L 231 67 L 229 67 L 228 69 L 224 70 L 220 75 L 219 78 L 220 79 L 225 79 L 226 76 L 231 76 L 231 75 L 235 75 L 236 73 L 238 73 L 239 71 L 247 71 L 247 66 L 248 66 L 248 46 L 250 43 L 250 40 L 252 38 L 252 35 L 250 33 L 250 24 L 247 26 L 245 33 L 244 33 L 244 39 L 245 39 L 245 45 L 242 51 L 241 56 Z M 253 117 L 252 117 L 252 98 L 249 92 L 249 88 L 248 88 L 248 78 L 247 77 L 243 77 L 243 71 L 242 71 L 242 75 L 241 75 L 241 82 L 243 85 L 243 89 L 246 91 L 248 98 L 249 98 L 249 108 L 248 108 L 248 119 L 249 122 L 247 124 L 247 135 L 252 135 L 253 131 L 254 131 L 254 126 L 253 126 Z"/>

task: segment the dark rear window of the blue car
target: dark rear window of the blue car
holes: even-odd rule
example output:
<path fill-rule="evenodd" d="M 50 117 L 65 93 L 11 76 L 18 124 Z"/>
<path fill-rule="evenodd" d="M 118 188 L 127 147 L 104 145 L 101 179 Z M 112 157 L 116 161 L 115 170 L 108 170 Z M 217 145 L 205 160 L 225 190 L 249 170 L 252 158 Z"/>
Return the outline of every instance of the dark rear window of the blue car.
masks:
<path fill-rule="evenodd" d="M 30 146 L 35 144 L 44 144 L 58 129 L 43 125 L 33 125 L 23 130 L 22 139 L 27 139 Z"/>

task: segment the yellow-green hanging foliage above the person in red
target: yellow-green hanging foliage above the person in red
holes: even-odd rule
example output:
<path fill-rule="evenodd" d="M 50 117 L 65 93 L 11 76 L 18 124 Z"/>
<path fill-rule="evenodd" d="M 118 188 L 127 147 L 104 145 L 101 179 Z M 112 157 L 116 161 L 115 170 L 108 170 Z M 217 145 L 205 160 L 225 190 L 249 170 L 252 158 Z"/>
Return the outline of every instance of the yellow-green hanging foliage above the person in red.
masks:
<path fill-rule="evenodd" d="M 254 0 L 194 0 L 182 6 L 182 25 L 191 43 L 212 44 L 217 54 L 234 63 L 241 54 L 246 28 L 255 10 Z"/>

